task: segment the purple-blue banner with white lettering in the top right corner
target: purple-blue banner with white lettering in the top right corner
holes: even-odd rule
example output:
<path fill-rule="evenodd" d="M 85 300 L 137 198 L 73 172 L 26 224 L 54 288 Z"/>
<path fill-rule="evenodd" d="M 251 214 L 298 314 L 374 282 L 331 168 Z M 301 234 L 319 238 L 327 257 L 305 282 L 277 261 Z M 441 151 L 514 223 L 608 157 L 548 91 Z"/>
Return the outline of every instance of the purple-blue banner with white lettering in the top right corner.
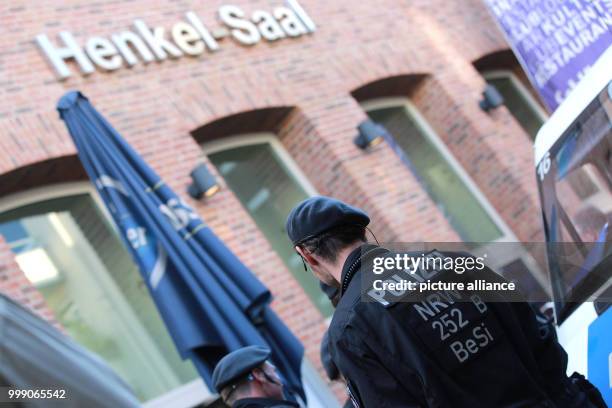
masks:
<path fill-rule="evenodd" d="M 486 0 L 551 111 L 612 45 L 611 0 Z"/>

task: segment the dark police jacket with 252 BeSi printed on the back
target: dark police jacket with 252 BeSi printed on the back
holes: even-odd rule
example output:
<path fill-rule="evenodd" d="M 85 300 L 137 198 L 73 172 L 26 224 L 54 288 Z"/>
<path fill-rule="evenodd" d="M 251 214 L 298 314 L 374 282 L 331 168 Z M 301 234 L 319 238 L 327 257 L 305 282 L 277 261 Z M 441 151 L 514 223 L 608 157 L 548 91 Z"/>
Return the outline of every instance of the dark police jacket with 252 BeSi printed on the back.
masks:
<path fill-rule="evenodd" d="M 363 246 L 349 255 L 329 328 L 332 358 L 361 406 L 588 406 L 565 375 L 567 355 L 554 335 L 540 335 L 526 303 L 490 302 L 483 312 L 457 302 L 430 317 L 415 303 L 361 301 L 361 274 L 385 252 Z M 441 320 L 451 318 L 460 330 L 447 336 Z"/>

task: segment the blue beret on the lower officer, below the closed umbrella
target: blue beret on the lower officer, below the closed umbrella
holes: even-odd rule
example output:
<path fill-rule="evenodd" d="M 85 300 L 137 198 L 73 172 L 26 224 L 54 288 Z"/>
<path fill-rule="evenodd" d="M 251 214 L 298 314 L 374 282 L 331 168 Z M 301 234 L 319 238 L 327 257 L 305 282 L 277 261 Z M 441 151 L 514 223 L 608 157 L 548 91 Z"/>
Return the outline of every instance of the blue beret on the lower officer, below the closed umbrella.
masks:
<path fill-rule="evenodd" d="M 261 346 L 248 346 L 232 351 L 223 357 L 213 371 L 213 385 L 221 391 L 241 379 L 270 357 L 270 350 Z"/>

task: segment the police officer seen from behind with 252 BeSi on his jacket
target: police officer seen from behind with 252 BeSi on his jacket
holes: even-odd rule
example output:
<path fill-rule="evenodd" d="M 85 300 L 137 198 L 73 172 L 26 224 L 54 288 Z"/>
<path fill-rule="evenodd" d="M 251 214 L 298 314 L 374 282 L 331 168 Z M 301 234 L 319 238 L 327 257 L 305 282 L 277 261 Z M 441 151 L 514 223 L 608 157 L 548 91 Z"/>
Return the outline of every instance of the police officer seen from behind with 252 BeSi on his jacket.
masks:
<path fill-rule="evenodd" d="M 340 290 L 329 347 L 355 406 L 592 406 L 565 374 L 567 355 L 554 336 L 540 334 L 526 303 L 438 297 L 421 310 L 415 302 L 361 301 L 364 271 L 390 253 L 366 243 L 369 222 L 360 209 L 312 197 L 286 225 L 314 275 Z"/>

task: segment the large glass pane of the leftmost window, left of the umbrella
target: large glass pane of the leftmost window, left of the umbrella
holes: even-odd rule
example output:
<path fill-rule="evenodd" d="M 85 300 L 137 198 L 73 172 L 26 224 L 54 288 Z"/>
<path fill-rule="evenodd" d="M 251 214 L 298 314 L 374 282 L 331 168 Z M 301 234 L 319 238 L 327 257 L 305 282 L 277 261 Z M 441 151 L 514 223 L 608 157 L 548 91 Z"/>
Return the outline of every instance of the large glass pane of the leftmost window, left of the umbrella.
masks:
<path fill-rule="evenodd" d="M 0 214 L 0 234 L 66 332 L 102 357 L 142 401 L 197 377 L 89 194 Z"/>

